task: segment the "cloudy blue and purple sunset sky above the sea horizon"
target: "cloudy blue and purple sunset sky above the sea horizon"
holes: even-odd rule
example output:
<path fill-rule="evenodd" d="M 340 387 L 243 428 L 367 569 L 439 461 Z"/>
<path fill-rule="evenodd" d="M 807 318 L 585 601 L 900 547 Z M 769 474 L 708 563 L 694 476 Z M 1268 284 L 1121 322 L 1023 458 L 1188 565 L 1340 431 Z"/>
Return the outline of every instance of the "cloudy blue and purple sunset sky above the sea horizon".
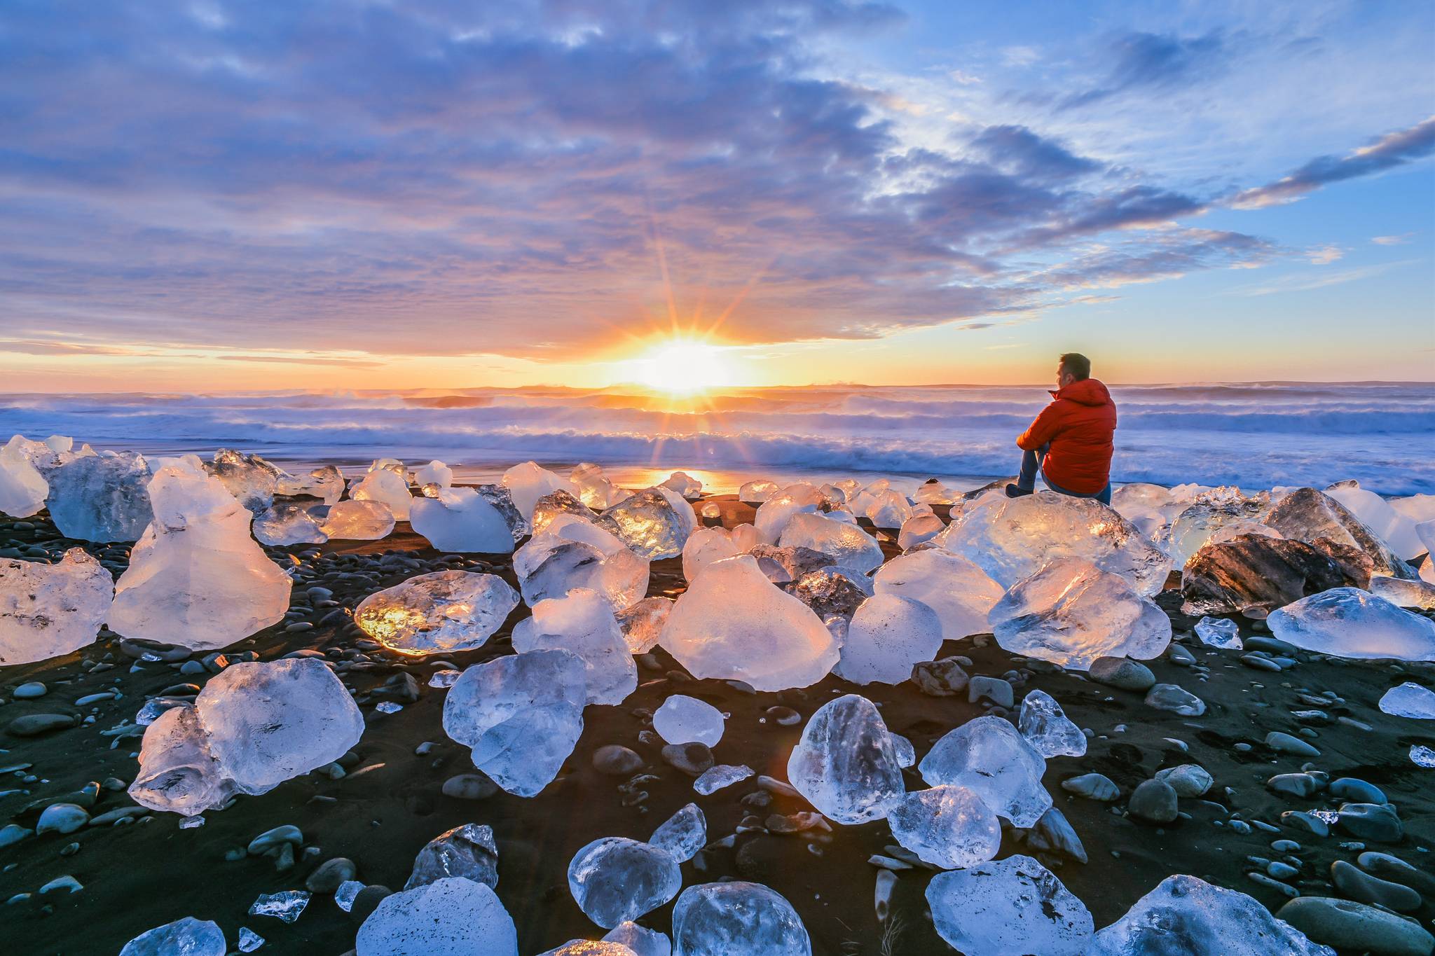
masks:
<path fill-rule="evenodd" d="M 10 0 L 0 391 L 674 337 L 736 386 L 1435 380 L 1431 49 L 1380 0 Z"/>

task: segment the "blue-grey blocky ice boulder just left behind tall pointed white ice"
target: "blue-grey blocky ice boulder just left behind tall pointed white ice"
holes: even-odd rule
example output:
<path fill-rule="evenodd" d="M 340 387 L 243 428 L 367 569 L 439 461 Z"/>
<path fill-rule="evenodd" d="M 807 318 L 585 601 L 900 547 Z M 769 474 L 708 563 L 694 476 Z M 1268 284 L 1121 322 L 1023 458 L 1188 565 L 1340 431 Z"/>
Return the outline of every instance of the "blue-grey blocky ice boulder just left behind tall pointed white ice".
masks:
<path fill-rule="evenodd" d="M 151 477 L 142 454 L 88 454 L 66 462 L 49 474 L 50 519 L 66 537 L 138 540 L 154 520 Z"/>

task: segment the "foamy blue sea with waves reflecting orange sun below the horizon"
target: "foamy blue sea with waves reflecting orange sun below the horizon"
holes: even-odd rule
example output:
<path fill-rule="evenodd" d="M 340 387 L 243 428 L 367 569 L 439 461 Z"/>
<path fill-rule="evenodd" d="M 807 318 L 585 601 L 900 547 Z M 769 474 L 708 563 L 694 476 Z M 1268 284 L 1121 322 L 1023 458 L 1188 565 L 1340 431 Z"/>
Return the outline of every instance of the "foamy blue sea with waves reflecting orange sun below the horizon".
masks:
<path fill-rule="evenodd" d="M 1114 477 L 1435 492 L 1431 384 L 1141 386 L 1112 390 Z M 0 396 L 0 434 L 76 434 L 151 453 L 241 447 L 284 463 L 433 456 L 465 480 L 522 459 L 729 476 L 881 472 L 996 477 L 1048 401 L 1036 387 L 740 390 L 672 411 L 636 390 L 251 396 Z M 719 487 L 715 490 L 735 490 Z"/>

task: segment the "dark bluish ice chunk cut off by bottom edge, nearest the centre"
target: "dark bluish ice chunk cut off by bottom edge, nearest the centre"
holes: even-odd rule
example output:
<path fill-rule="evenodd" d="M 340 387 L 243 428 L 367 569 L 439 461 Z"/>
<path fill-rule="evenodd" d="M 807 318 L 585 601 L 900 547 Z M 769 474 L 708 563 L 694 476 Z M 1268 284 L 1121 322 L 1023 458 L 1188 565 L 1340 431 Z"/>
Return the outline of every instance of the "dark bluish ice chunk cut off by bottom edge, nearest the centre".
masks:
<path fill-rule="evenodd" d="M 673 904 L 673 952 L 682 956 L 812 956 L 792 904 L 761 883 L 699 883 Z"/>

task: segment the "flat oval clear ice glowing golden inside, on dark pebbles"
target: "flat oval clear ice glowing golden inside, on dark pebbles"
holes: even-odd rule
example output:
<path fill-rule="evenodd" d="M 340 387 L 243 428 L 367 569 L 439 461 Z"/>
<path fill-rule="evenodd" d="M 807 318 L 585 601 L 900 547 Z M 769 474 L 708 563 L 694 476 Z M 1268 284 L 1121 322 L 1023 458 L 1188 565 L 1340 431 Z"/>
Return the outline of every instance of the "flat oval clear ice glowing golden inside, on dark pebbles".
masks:
<path fill-rule="evenodd" d="M 354 623 L 390 651 L 410 656 L 474 651 L 518 606 L 497 575 L 435 570 L 376 591 L 354 608 Z"/>

